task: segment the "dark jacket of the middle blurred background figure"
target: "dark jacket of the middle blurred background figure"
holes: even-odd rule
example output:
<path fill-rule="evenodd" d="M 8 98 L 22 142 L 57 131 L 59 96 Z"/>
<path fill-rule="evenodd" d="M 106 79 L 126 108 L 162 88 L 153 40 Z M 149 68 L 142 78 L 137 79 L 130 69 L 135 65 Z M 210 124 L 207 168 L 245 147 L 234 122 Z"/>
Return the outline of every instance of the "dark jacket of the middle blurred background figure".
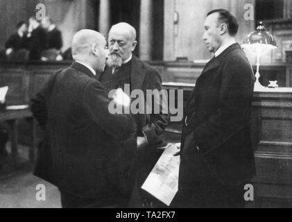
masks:
<path fill-rule="evenodd" d="M 44 28 L 38 26 L 31 33 L 31 37 L 28 37 L 27 48 L 30 51 L 31 60 L 40 60 L 42 51 L 47 46 L 47 35 Z"/>

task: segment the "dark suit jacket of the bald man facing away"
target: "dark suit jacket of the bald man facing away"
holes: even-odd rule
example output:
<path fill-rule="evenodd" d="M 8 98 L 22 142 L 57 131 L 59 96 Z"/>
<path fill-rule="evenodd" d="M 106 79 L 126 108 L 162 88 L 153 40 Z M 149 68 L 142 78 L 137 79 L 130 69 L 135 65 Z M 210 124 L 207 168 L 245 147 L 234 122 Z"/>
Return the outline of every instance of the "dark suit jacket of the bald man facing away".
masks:
<path fill-rule="evenodd" d="M 131 115 L 110 114 L 109 103 L 103 85 L 77 62 L 31 101 L 49 142 L 42 147 L 51 159 L 44 169 L 51 167 L 49 182 L 61 191 L 100 199 L 121 194 L 119 142 L 135 133 L 135 126 Z"/>

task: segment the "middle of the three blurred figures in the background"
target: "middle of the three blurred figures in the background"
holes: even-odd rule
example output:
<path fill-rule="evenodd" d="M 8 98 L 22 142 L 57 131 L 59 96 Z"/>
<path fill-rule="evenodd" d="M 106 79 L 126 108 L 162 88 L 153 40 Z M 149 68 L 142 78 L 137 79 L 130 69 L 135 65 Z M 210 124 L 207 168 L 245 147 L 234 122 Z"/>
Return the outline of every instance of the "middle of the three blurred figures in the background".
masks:
<path fill-rule="evenodd" d="M 30 60 L 40 60 L 42 52 L 47 49 L 46 31 L 40 26 L 40 22 L 31 17 L 28 26 L 28 49 L 30 51 Z"/>

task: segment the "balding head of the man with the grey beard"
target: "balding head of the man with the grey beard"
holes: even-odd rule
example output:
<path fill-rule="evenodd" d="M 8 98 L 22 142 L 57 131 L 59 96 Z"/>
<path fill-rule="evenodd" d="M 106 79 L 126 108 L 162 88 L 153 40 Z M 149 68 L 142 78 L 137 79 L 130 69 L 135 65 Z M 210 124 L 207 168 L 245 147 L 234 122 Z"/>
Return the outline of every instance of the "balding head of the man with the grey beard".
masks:
<path fill-rule="evenodd" d="M 120 67 L 132 55 L 137 45 L 136 30 L 130 24 L 121 22 L 112 26 L 108 35 L 110 49 L 109 65 Z"/>

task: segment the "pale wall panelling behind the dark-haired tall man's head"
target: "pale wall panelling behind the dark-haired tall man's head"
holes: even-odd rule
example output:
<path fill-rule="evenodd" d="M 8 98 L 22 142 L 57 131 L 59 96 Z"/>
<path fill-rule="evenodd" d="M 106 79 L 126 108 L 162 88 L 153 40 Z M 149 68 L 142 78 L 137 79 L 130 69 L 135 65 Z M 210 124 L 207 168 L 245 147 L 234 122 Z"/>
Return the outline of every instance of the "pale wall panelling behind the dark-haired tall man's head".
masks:
<path fill-rule="evenodd" d="M 255 0 L 171 0 L 166 1 L 164 11 L 164 60 L 187 57 L 192 60 L 206 60 L 211 57 L 203 42 L 204 23 L 207 12 L 217 8 L 230 10 L 239 21 L 237 40 L 255 30 L 255 22 L 246 20 L 244 6 L 255 5 Z M 178 24 L 173 24 L 173 16 L 178 12 Z"/>

